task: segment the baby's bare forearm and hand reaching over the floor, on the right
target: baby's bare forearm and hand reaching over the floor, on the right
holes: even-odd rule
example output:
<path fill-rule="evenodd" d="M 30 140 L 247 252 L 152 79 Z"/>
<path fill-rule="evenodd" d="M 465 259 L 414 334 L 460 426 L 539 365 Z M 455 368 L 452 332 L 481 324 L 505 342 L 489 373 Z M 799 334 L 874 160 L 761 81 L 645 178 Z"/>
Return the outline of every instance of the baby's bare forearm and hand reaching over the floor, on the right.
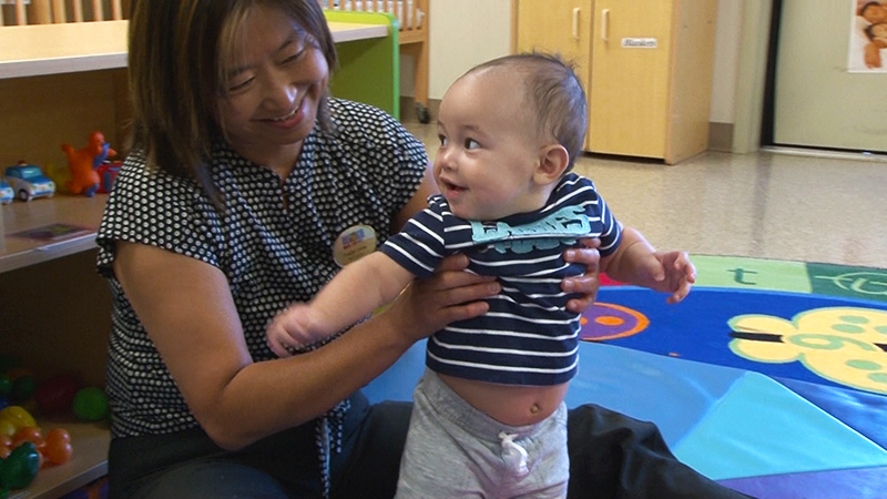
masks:
<path fill-rule="evenodd" d="M 669 303 L 684 299 L 696 282 L 696 267 L 686 253 L 657 252 L 631 227 L 622 230 L 619 248 L 601 257 L 601 272 L 623 283 L 671 293 Z"/>

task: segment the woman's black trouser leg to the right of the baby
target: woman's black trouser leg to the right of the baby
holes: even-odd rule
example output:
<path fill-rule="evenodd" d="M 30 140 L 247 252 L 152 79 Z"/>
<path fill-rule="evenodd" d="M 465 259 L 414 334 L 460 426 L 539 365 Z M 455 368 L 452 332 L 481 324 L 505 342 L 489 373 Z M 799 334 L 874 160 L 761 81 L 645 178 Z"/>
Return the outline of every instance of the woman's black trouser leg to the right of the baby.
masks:
<path fill-rule="evenodd" d="M 679 461 L 659 428 L 589 404 L 570 410 L 568 498 L 746 498 Z"/>

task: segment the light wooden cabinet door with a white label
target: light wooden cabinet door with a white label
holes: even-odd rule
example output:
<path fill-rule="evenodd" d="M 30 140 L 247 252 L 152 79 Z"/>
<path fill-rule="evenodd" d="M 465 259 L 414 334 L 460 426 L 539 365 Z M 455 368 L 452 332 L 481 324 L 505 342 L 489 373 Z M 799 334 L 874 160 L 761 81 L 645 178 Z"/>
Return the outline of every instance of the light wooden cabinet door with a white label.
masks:
<path fill-rule="evenodd" d="M 664 156 L 672 3 L 667 0 L 594 2 L 591 151 Z"/>

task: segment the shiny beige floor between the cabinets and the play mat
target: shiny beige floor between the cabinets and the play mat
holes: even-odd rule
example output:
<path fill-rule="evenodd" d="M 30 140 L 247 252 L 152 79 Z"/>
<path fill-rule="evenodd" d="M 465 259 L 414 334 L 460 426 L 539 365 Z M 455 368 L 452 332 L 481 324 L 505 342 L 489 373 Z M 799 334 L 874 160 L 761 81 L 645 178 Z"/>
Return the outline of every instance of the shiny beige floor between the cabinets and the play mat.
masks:
<path fill-rule="evenodd" d="M 434 159 L 435 124 L 406 125 Z M 577 172 L 663 249 L 887 268 L 887 161 L 762 151 L 665 165 L 585 155 Z"/>

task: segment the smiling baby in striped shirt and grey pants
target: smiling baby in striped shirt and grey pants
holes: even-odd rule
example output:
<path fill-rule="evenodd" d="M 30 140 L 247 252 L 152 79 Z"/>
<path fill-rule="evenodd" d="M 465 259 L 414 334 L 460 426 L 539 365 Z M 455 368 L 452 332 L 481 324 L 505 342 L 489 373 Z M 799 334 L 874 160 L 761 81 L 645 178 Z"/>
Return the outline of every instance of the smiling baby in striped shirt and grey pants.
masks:
<path fill-rule="evenodd" d="M 502 291 L 486 315 L 428 340 L 398 498 L 565 496 L 563 399 L 578 368 L 580 315 L 567 309 L 573 296 L 560 283 L 584 272 L 562 258 L 578 240 L 600 238 L 603 272 L 670 293 L 670 303 L 695 281 L 685 253 L 655 251 L 615 221 L 591 181 L 570 173 L 587 115 L 580 81 L 557 57 L 508 55 L 471 69 L 440 105 L 441 194 L 268 326 L 269 346 L 285 356 L 390 302 L 446 255 L 462 253 L 469 272 L 498 276 Z"/>

